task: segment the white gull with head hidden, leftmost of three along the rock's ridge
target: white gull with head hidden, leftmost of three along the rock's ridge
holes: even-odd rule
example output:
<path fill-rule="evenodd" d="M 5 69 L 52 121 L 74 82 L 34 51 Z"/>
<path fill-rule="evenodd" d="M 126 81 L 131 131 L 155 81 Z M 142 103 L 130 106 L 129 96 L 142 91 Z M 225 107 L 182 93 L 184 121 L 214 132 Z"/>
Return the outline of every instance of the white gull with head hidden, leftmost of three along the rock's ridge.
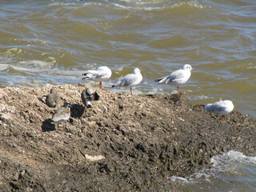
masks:
<path fill-rule="evenodd" d="M 102 82 L 105 82 L 111 77 L 112 71 L 107 66 L 99 66 L 97 70 L 87 70 L 83 76 L 86 76 L 82 79 L 93 80 L 94 82 L 99 82 L 99 86 L 102 88 Z"/>

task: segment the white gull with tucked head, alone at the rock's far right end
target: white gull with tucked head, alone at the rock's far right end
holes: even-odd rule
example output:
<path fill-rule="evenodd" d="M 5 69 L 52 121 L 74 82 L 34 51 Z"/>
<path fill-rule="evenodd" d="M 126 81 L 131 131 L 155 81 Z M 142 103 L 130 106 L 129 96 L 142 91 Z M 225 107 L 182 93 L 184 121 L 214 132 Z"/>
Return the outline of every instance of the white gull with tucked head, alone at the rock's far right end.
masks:
<path fill-rule="evenodd" d="M 230 100 L 225 100 L 209 103 L 205 106 L 205 109 L 213 111 L 214 113 L 218 114 L 218 116 L 221 116 L 221 122 L 223 122 L 224 115 L 229 114 L 234 109 L 234 105 Z"/>

